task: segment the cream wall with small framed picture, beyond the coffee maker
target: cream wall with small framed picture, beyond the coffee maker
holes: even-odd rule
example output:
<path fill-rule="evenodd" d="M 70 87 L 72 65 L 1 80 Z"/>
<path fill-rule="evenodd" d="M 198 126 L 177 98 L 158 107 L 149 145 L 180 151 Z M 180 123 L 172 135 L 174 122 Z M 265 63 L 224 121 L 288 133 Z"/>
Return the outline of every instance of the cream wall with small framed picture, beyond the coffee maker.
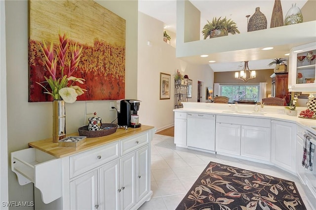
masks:
<path fill-rule="evenodd" d="M 161 21 L 139 12 L 137 99 L 142 101 L 139 121 L 142 124 L 153 125 L 157 130 L 173 125 L 173 74 L 177 69 L 193 80 L 193 95 L 189 101 L 197 102 L 197 80 L 204 82 L 204 95 L 206 87 L 212 87 L 214 81 L 214 73 L 208 65 L 190 65 L 177 59 L 175 48 L 163 41 L 162 30 Z M 148 41 L 150 41 L 150 46 Z M 159 100 L 160 72 L 171 74 L 169 100 Z"/>

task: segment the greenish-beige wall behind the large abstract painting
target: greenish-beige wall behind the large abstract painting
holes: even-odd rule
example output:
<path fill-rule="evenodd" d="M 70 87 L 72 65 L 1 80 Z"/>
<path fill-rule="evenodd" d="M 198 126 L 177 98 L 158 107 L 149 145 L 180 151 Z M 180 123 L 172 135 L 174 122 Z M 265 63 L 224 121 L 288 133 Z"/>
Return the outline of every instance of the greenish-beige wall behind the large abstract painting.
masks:
<path fill-rule="evenodd" d="M 134 83 L 137 79 L 137 53 L 135 52 L 137 52 L 138 3 L 129 0 L 98 2 L 103 6 L 109 4 L 109 7 L 106 6 L 108 9 L 112 9 L 113 12 L 126 20 L 125 96 L 126 98 L 134 98 L 137 96 L 137 87 Z M 8 152 L 10 153 L 27 148 L 28 142 L 51 137 L 52 103 L 28 102 L 28 1 L 5 1 L 5 18 L 7 139 Z M 109 111 L 109 101 L 94 101 L 92 107 L 102 118 L 102 122 L 111 122 L 116 118 L 116 111 Z M 66 104 L 66 132 L 68 134 L 77 132 L 78 128 L 84 124 L 86 117 L 89 116 L 85 116 L 84 101 Z M 20 186 L 16 175 L 10 170 L 8 176 L 9 200 L 16 202 L 33 201 L 33 184 Z"/>

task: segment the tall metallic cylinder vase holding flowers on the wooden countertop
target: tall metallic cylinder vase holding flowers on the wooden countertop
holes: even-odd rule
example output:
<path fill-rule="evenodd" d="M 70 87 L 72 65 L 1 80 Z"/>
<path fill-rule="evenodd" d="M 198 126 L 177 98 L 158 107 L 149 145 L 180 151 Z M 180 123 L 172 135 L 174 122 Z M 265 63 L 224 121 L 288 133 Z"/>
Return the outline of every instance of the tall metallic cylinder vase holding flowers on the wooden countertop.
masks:
<path fill-rule="evenodd" d="M 66 137 L 66 110 L 63 100 L 53 101 L 53 142 Z"/>

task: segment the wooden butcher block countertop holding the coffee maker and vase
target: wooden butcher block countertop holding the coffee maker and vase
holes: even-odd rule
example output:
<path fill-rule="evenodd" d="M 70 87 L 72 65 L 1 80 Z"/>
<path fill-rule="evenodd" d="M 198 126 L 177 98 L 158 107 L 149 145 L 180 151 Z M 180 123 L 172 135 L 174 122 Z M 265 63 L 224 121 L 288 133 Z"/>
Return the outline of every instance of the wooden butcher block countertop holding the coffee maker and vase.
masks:
<path fill-rule="evenodd" d="M 130 136 L 154 129 L 153 126 L 142 125 L 140 128 L 128 128 L 128 130 L 117 129 L 114 134 L 97 137 L 97 138 L 87 138 L 86 141 L 79 145 L 78 147 L 61 147 L 58 146 L 58 143 L 53 143 L 52 139 L 38 140 L 29 142 L 29 146 L 39 149 L 43 152 L 46 152 L 50 155 L 55 156 L 56 158 L 67 157 L 79 152 L 83 152 L 89 149 L 93 149 L 104 144 L 128 138 Z M 67 136 L 79 136 L 79 133 L 70 134 Z"/>

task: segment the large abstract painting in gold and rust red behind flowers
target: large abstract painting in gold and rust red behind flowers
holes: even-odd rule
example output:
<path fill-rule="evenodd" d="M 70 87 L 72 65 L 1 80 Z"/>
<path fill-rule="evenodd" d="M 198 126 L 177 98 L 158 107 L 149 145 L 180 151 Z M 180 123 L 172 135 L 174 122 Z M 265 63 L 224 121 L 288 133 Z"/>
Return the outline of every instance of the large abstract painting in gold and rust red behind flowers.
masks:
<path fill-rule="evenodd" d="M 78 100 L 123 99 L 125 20 L 92 0 L 29 0 L 29 102 L 52 101 L 36 82 L 49 76 L 40 44 L 53 41 L 56 48 L 59 32 L 83 46 L 72 75 L 86 80 Z"/>

